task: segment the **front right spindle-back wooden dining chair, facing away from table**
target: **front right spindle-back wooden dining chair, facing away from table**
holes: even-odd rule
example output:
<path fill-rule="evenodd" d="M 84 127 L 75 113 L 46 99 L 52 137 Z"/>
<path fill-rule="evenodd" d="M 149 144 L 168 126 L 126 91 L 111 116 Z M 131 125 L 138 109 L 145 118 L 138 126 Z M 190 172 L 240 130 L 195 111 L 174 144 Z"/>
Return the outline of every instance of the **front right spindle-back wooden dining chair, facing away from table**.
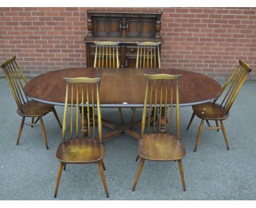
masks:
<path fill-rule="evenodd" d="M 141 138 L 138 140 L 138 158 L 141 162 L 133 183 L 132 191 L 141 174 L 144 161 L 178 161 L 179 172 L 181 175 L 183 191 L 185 191 L 185 180 L 182 166 L 182 158 L 185 156 L 185 147 L 181 140 L 180 118 L 179 118 L 179 90 L 178 79 L 181 75 L 144 75 L 146 77 L 146 92 L 144 98 Z M 161 129 L 161 117 L 167 119 L 167 107 L 170 107 L 170 126 L 169 130 L 165 123 L 164 129 Z M 173 106 L 176 106 L 176 131 L 172 131 L 173 126 Z M 160 119 L 156 119 L 157 107 L 160 109 Z M 146 127 L 146 114 L 148 111 L 149 120 L 147 122 L 147 133 L 144 133 Z M 153 115 L 151 112 L 153 111 Z M 164 114 L 161 113 L 164 111 Z M 150 117 L 153 117 L 153 125 L 150 125 Z M 173 120 L 172 120 L 173 119 Z"/>

